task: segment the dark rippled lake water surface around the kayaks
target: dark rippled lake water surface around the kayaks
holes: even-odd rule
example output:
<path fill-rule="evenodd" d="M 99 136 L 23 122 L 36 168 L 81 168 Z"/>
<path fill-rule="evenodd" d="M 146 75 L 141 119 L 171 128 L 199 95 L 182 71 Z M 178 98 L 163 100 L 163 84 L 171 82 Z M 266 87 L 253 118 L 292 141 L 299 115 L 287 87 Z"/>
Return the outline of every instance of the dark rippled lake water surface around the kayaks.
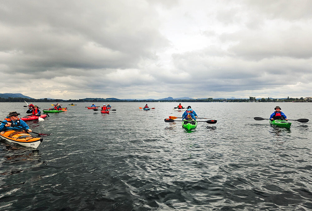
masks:
<path fill-rule="evenodd" d="M 182 115 L 178 103 L 111 103 L 110 114 L 76 104 L 28 122 L 52 133 L 37 150 L 1 140 L 0 210 L 312 209 L 311 122 L 253 119 L 279 105 L 312 120 L 312 103 L 182 103 L 218 120 L 191 133 L 164 122 Z M 23 105 L 0 103 L 0 118 L 26 116 Z"/>

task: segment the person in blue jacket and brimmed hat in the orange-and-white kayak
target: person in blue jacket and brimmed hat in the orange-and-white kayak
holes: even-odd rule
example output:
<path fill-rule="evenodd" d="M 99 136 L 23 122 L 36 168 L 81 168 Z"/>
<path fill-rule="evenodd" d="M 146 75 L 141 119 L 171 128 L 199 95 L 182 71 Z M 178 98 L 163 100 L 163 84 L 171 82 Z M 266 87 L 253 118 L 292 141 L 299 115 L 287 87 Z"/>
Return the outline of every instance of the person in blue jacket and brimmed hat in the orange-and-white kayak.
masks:
<path fill-rule="evenodd" d="M 0 132 L 5 130 L 21 130 L 21 128 L 17 128 L 14 126 L 10 127 L 11 124 L 21 126 L 22 128 L 27 129 L 28 133 L 32 132 L 32 130 L 29 129 L 29 126 L 22 119 L 18 118 L 18 115 L 20 115 L 20 113 L 17 113 L 16 111 L 11 111 L 3 121 L 5 123 L 0 124 Z"/>

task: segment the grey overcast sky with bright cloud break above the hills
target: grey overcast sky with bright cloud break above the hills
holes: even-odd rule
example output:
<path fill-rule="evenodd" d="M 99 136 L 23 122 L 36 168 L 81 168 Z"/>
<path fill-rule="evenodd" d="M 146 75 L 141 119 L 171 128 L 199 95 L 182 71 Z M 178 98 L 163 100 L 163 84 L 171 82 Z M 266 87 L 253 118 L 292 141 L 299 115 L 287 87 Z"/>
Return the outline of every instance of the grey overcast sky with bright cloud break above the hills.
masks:
<path fill-rule="evenodd" d="M 0 2 L 0 93 L 311 97 L 312 1 Z"/>

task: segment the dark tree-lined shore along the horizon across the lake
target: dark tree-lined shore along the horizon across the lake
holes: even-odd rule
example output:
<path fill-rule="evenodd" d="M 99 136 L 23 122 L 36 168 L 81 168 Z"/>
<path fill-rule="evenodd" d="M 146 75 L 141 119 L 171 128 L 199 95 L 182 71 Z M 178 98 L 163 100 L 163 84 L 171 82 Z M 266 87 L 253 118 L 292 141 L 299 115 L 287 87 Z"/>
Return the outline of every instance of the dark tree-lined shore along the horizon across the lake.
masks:
<path fill-rule="evenodd" d="M 249 97 L 249 99 L 212 99 L 212 98 L 206 98 L 206 99 L 185 99 L 185 100 L 119 100 L 119 99 L 79 99 L 79 100 L 62 100 L 62 99 L 29 99 L 29 98 L 0 98 L 0 102 L 24 102 L 24 101 L 32 101 L 32 102 L 72 102 L 72 103 L 78 103 L 78 102 L 312 102 L 312 98 L 261 98 L 256 99 L 255 97 Z"/>

